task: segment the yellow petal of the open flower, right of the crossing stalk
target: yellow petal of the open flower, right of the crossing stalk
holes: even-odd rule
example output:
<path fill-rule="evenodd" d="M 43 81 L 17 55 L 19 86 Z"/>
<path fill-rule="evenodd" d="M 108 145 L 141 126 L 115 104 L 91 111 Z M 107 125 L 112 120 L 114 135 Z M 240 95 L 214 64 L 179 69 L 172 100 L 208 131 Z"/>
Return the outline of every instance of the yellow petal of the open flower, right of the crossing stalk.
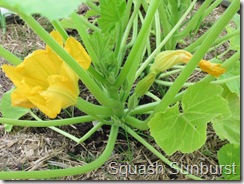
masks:
<path fill-rule="evenodd" d="M 67 39 L 65 50 L 82 66 L 83 69 L 87 70 L 91 65 L 90 56 L 80 42 L 76 41 L 73 37 Z"/>

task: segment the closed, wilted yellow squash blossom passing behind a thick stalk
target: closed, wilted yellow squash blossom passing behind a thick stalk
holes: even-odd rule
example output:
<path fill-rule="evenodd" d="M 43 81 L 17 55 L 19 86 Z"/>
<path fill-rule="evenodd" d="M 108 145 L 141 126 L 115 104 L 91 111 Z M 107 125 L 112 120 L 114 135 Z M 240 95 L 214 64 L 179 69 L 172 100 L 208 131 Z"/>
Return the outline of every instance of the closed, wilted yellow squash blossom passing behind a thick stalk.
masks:
<path fill-rule="evenodd" d="M 159 53 L 154 63 L 152 64 L 150 71 L 159 73 L 163 72 L 176 64 L 187 64 L 192 58 L 192 54 L 184 50 L 170 50 Z M 221 67 L 221 64 L 211 63 L 206 60 L 201 60 L 198 66 L 208 74 L 218 77 L 225 72 L 225 68 Z"/>

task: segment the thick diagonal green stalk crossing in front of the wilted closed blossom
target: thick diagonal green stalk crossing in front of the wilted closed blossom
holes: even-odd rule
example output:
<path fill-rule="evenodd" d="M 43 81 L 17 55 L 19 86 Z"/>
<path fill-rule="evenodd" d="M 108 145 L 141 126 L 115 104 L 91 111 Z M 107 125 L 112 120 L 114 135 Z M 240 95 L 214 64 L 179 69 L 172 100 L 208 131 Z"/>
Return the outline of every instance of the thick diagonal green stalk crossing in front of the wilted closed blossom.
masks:
<path fill-rule="evenodd" d="M 193 55 L 192 59 L 186 65 L 179 77 L 175 80 L 174 84 L 169 88 L 168 92 L 164 95 L 162 101 L 158 104 L 158 106 L 155 108 L 155 110 L 149 116 L 146 122 L 150 121 L 156 113 L 165 111 L 166 108 L 171 104 L 172 99 L 174 99 L 178 91 L 181 89 L 188 77 L 198 65 L 199 61 L 204 57 L 205 53 L 212 45 L 212 41 L 214 41 L 219 36 L 224 27 L 239 10 L 239 6 L 239 1 L 234 0 L 229 8 L 225 11 L 225 13 L 219 18 L 219 20 L 208 30 L 209 34 L 207 34 L 207 37 L 202 42 L 202 45 Z"/>

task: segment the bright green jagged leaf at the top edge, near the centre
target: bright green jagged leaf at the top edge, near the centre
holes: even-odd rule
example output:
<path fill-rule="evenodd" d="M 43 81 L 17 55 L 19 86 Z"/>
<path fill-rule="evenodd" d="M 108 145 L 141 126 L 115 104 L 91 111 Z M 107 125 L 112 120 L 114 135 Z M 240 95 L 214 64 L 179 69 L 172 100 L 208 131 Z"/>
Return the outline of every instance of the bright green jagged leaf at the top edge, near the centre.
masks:
<path fill-rule="evenodd" d="M 125 13 L 125 0 L 100 0 L 101 17 L 98 24 L 103 32 L 109 33 L 121 24 Z"/>

